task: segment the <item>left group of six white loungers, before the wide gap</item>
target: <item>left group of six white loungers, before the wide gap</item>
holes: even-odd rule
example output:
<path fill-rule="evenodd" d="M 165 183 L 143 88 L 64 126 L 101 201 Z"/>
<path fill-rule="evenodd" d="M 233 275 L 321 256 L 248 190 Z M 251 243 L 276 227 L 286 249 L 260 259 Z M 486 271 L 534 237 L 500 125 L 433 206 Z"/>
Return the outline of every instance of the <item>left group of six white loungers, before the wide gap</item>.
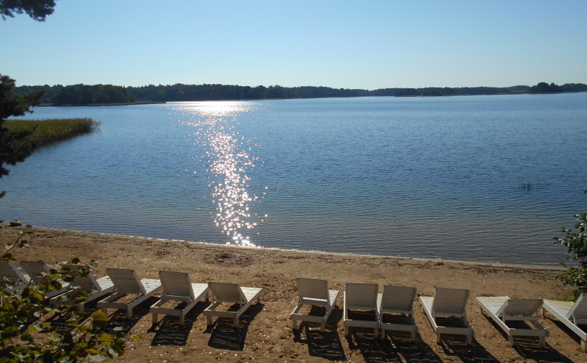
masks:
<path fill-rule="evenodd" d="M 38 283 L 49 273 L 50 269 L 44 262 L 21 261 L 23 273 L 13 262 L 0 260 L 0 274 L 4 276 L 3 283 L 11 285 L 11 291 L 25 288 L 30 283 Z M 69 268 L 78 268 L 70 265 Z M 184 324 L 186 314 L 200 300 L 208 300 L 212 295 L 211 305 L 206 307 L 203 315 L 208 325 L 213 324 L 213 317 L 227 317 L 233 319 L 233 324 L 238 327 L 240 315 L 247 308 L 258 302 L 263 288 L 245 288 L 236 283 L 191 283 L 189 274 L 159 271 L 160 280 L 139 279 L 137 272 L 125 268 L 107 268 L 106 276 L 95 278 L 91 273 L 88 275 L 75 275 L 74 280 L 60 290 L 49 291 L 46 298 L 51 305 L 73 305 L 75 296 L 80 290 L 87 293 L 88 298 L 78 303 L 78 311 L 83 312 L 87 302 L 102 298 L 97 302 L 97 307 L 107 312 L 108 309 L 125 310 L 126 317 L 132 317 L 134 307 L 148 298 L 161 292 L 162 296 L 152 305 L 149 312 L 152 313 L 153 323 L 161 315 L 174 315 L 179 317 L 180 324 Z M 105 297 L 105 295 L 110 294 Z M 168 302 L 186 302 L 186 306 L 177 309 L 169 306 Z M 239 309 L 221 310 L 223 304 L 238 304 Z"/>

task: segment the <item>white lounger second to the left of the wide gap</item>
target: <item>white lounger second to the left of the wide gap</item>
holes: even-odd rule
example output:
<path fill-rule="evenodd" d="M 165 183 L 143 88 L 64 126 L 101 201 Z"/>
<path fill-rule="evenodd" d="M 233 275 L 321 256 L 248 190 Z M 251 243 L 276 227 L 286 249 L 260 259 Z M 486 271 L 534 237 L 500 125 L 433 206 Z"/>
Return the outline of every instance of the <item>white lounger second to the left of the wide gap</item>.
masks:
<path fill-rule="evenodd" d="M 188 273 L 159 271 L 159 278 L 163 285 L 161 299 L 155 302 L 149 312 L 153 314 L 153 324 L 157 323 L 157 315 L 174 315 L 179 317 L 179 324 L 184 325 L 186 314 L 196 304 L 206 298 L 208 300 L 208 284 L 191 283 Z M 186 302 L 183 309 L 176 307 L 164 307 L 166 302 L 182 301 Z"/>

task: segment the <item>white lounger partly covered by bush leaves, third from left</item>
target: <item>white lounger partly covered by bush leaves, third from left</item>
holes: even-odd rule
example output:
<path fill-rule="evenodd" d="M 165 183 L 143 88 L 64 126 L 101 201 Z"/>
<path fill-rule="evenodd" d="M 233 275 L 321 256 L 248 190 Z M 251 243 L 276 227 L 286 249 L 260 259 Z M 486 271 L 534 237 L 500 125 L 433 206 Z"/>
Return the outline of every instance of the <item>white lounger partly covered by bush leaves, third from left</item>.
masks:
<path fill-rule="evenodd" d="M 73 271 L 80 268 L 78 265 L 68 265 L 67 267 L 71 268 Z M 85 291 L 85 293 L 88 293 L 88 297 L 76 306 L 79 312 L 83 312 L 86 303 L 102 298 L 103 296 L 112 293 L 114 290 L 114 284 L 112 283 L 112 280 L 110 280 L 110 277 L 104 276 L 102 278 L 96 278 L 95 275 L 92 275 L 91 273 L 88 273 L 86 276 L 80 274 L 75 275 L 73 281 L 68 287 L 68 291 L 49 300 L 51 305 L 74 305 L 78 293 L 80 291 Z"/>

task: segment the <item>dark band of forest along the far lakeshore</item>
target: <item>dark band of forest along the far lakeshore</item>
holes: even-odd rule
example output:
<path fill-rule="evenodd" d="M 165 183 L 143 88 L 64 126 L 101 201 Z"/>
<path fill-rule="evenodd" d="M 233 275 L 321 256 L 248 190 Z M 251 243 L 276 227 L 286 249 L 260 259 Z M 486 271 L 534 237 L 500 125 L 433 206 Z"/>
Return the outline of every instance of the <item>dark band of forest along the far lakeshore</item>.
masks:
<path fill-rule="evenodd" d="M 145 85 L 142 87 L 122 87 L 117 85 L 34 85 L 15 88 L 18 94 L 45 90 L 42 104 L 51 105 L 100 105 L 130 102 L 171 102 L 207 100 L 266 100 L 286 98 L 342 98 L 366 96 L 450 96 L 450 95 L 503 95 L 520 93 L 564 93 L 587 92 L 583 83 L 555 85 L 538 83 L 532 87 L 516 85 L 512 87 L 463 87 L 463 88 L 383 88 L 379 90 L 359 90 L 329 87 L 264 87 L 240 85 Z"/>

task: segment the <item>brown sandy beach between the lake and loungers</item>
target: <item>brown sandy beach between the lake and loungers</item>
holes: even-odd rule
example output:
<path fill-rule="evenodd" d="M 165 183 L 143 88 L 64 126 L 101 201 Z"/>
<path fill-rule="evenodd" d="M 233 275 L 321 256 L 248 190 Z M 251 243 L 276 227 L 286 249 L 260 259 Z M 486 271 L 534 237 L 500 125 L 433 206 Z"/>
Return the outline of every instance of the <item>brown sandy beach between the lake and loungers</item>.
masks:
<path fill-rule="evenodd" d="M 21 229 L 4 223 L 1 241 L 11 243 Z M 587 361 L 578 338 L 548 313 L 541 318 L 550 331 L 545 348 L 533 338 L 519 338 L 510 347 L 475 302 L 476 296 L 564 298 L 571 288 L 556 279 L 561 272 L 557 268 L 237 248 L 48 228 L 31 231 L 31 246 L 14 251 L 17 261 L 67 261 L 77 253 L 83 262 L 97 260 L 97 276 L 109 267 L 134 268 L 141 278 L 157 278 L 159 270 L 176 270 L 189 273 L 193 283 L 214 280 L 264 288 L 260 304 L 245 312 L 237 330 L 228 321 L 207 330 L 201 315 L 206 302 L 196 305 L 184 327 L 175 317 L 165 317 L 152 326 L 148 311 L 156 298 L 140 305 L 131 320 L 110 310 L 109 329 L 120 326 L 127 334 L 142 337 L 142 342 L 128 340 L 125 355 L 115 362 Z M 297 277 L 327 279 L 330 288 L 341 290 L 326 332 L 319 332 L 317 325 L 302 325 L 300 332 L 292 333 L 289 315 L 297 303 Z M 437 344 L 418 300 L 415 311 L 420 332 L 416 342 L 401 333 L 377 340 L 371 330 L 361 329 L 351 330 L 350 337 L 345 337 L 342 291 L 344 284 L 351 282 L 379 283 L 380 290 L 385 284 L 416 286 L 418 295 L 428 296 L 436 287 L 470 289 L 467 314 L 475 327 L 473 344 L 467 345 L 457 336 Z M 95 303 L 86 311 L 94 309 Z"/>

